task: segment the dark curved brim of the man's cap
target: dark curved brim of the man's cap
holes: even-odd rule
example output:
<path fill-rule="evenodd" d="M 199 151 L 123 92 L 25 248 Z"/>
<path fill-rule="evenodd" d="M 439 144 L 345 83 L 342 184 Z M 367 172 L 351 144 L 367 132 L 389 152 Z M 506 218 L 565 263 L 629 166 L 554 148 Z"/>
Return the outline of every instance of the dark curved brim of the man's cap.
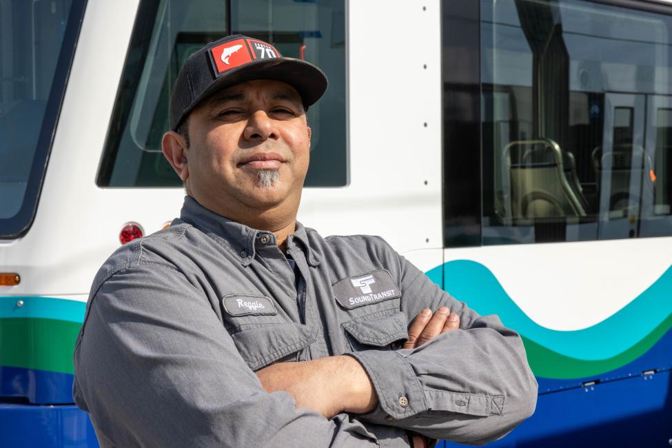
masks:
<path fill-rule="evenodd" d="M 180 121 L 215 92 L 256 79 L 274 79 L 291 85 L 301 95 L 306 108 L 315 104 L 327 90 L 327 76 L 312 63 L 288 57 L 257 59 L 221 74 L 192 101 L 190 107 L 183 112 Z"/>

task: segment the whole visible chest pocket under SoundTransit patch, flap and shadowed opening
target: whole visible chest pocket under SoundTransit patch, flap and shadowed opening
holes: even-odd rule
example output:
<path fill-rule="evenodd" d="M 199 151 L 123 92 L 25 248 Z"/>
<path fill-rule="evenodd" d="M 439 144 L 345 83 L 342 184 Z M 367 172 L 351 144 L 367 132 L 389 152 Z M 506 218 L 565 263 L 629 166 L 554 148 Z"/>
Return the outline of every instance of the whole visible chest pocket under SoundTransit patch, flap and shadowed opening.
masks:
<path fill-rule="evenodd" d="M 353 352 L 367 349 L 399 349 L 408 340 L 406 315 L 386 310 L 341 324 Z"/>

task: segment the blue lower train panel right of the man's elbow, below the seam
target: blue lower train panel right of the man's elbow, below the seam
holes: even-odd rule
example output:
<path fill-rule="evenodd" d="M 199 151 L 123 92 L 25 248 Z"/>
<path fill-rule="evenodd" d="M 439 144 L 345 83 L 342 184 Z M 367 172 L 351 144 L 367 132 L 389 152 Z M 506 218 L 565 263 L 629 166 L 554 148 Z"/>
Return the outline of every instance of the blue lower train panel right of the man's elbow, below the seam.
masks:
<path fill-rule="evenodd" d="M 488 447 L 664 447 L 670 439 L 672 373 L 662 371 L 540 395 L 534 415 Z"/>

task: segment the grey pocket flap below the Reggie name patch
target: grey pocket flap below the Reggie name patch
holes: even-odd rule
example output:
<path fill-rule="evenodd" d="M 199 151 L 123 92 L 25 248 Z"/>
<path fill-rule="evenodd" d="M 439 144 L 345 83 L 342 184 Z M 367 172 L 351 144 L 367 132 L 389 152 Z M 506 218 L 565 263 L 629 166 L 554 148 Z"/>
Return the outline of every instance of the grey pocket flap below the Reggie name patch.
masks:
<path fill-rule="evenodd" d="M 307 347 L 317 335 L 315 326 L 281 323 L 245 329 L 231 337 L 250 369 L 258 370 Z"/>

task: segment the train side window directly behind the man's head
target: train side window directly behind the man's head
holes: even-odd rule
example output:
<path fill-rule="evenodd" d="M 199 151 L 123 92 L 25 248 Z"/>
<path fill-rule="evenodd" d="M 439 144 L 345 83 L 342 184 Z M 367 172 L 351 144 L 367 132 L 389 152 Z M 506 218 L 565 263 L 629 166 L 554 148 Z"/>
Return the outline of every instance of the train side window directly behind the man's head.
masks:
<path fill-rule="evenodd" d="M 134 26 L 97 184 L 177 187 L 161 153 L 172 85 L 187 57 L 225 34 L 263 39 L 329 77 L 307 112 L 312 128 L 306 186 L 347 183 L 345 0 L 143 0 Z"/>

